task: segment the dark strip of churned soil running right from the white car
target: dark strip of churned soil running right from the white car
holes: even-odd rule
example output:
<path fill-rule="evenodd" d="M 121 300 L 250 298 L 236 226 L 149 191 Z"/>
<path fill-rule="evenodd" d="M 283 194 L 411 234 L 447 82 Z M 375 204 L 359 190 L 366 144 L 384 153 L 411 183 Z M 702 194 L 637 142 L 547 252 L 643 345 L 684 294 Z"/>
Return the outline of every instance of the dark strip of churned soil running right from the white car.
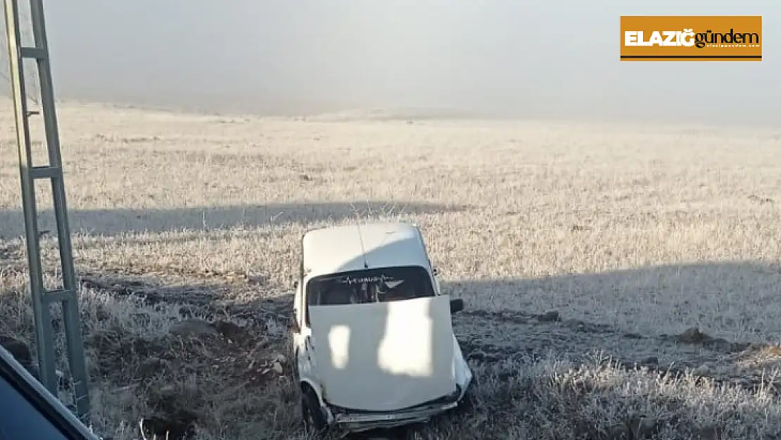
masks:
<path fill-rule="evenodd" d="M 626 370 L 645 367 L 651 373 L 694 374 L 747 389 L 772 384 L 773 392 L 781 390 L 781 377 L 772 374 L 772 367 L 781 365 L 781 348 L 727 342 L 694 328 L 651 336 L 622 332 L 608 324 L 562 320 L 556 312 L 487 310 L 458 313 L 453 328 L 464 356 L 476 363 L 529 363 L 553 352 L 573 363 L 593 362 L 598 356 Z"/>

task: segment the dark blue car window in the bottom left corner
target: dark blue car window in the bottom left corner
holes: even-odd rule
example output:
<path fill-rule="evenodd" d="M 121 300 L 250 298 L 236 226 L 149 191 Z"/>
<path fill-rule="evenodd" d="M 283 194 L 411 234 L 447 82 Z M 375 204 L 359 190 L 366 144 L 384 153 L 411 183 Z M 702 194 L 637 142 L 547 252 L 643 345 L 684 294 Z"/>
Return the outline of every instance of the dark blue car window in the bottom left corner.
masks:
<path fill-rule="evenodd" d="M 0 440 L 73 440 L 0 376 Z"/>

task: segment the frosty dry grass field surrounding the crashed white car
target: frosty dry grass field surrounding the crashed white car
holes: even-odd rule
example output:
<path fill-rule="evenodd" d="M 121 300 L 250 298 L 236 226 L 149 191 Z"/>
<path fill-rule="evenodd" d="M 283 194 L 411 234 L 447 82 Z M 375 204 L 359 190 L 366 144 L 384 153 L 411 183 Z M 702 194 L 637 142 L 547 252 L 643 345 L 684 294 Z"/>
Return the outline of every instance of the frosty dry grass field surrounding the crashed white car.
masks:
<path fill-rule="evenodd" d="M 420 224 L 469 309 L 455 329 L 475 405 L 412 436 L 781 432 L 777 133 L 76 104 L 59 116 L 77 270 L 103 280 L 82 295 L 94 427 L 115 440 L 177 411 L 202 439 L 304 438 L 287 365 L 266 371 L 285 349 L 279 315 L 303 231 L 357 218 Z M 30 340 L 12 147 L 7 130 L 0 333 Z M 55 241 L 43 245 L 53 287 Z M 536 315 L 551 310 L 559 320 Z M 168 330 L 183 315 L 242 333 L 181 342 Z"/>

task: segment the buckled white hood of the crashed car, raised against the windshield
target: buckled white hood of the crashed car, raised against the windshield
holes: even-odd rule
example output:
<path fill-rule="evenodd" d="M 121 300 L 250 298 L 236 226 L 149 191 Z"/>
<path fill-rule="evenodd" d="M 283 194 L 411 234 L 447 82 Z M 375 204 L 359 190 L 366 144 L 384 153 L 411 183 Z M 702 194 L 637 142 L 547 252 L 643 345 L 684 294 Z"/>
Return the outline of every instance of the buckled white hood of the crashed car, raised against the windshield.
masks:
<path fill-rule="evenodd" d="M 332 405 L 393 411 L 456 389 L 450 297 L 310 306 L 323 397 Z"/>

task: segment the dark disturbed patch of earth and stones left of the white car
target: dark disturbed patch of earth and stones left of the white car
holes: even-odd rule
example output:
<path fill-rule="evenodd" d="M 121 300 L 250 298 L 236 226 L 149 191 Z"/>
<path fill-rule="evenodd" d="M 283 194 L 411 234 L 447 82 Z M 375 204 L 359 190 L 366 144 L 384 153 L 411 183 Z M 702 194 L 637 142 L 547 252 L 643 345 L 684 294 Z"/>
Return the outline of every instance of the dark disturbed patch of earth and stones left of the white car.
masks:
<path fill-rule="evenodd" d="M 155 339 L 116 327 L 91 334 L 85 345 L 97 360 L 92 377 L 144 395 L 148 412 L 140 426 L 149 438 L 187 438 L 212 417 L 215 396 L 235 389 L 266 394 L 291 373 L 279 336 L 227 320 L 184 319 Z"/>

